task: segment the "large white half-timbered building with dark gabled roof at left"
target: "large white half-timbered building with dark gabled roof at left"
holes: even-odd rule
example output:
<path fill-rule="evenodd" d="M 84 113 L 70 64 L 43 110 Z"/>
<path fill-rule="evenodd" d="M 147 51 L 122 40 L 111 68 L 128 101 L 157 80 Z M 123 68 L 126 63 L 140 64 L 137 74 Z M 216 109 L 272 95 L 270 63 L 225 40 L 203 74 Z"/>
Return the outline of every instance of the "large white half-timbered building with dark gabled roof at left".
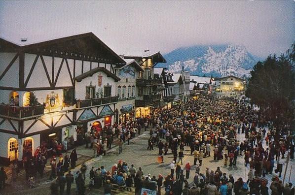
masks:
<path fill-rule="evenodd" d="M 0 38 L 0 161 L 112 125 L 114 68 L 125 64 L 91 32 L 30 45 Z"/>

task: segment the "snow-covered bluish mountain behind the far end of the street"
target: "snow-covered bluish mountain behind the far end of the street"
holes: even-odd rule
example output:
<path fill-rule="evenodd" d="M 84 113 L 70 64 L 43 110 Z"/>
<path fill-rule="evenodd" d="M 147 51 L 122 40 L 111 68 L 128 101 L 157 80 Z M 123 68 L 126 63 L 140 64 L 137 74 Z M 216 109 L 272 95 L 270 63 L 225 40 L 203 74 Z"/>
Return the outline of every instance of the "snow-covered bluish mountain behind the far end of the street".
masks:
<path fill-rule="evenodd" d="M 178 48 L 164 55 L 167 63 L 157 67 L 167 67 L 171 71 L 191 71 L 192 75 L 203 76 L 249 76 L 259 58 L 250 54 L 241 45 L 208 45 Z"/>

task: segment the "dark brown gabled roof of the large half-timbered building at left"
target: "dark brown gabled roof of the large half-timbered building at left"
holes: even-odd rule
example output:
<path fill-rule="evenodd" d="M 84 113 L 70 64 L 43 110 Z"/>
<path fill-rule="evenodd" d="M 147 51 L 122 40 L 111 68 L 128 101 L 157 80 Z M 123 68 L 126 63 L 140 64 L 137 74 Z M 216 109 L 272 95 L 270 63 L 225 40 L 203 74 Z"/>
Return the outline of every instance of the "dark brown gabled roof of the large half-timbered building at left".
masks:
<path fill-rule="evenodd" d="M 24 52 L 42 52 L 44 55 L 47 54 L 49 56 L 60 55 L 61 53 L 65 55 L 67 53 L 69 58 L 71 58 L 71 56 L 74 57 L 77 55 L 78 57 L 82 56 L 86 59 L 89 58 L 89 61 L 92 59 L 109 64 L 126 64 L 126 62 L 120 56 L 118 56 L 113 50 L 111 50 L 109 46 L 107 46 L 92 32 L 66 36 L 23 46 L 16 45 L 4 39 L 0 40 L 1 51 L 3 51 L 3 45 L 5 50 L 17 48 Z M 55 53 L 55 51 L 57 51 L 57 53 Z"/>

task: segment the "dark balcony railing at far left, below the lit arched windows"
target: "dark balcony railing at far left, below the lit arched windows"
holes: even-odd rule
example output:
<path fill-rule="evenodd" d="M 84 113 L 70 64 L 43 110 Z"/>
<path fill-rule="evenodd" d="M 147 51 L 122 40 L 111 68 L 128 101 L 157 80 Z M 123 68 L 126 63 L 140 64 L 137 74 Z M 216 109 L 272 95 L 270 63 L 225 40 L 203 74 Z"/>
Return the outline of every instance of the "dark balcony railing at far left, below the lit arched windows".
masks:
<path fill-rule="evenodd" d="M 44 107 L 43 104 L 23 107 L 0 104 L 0 115 L 15 118 L 33 117 L 44 114 Z"/>

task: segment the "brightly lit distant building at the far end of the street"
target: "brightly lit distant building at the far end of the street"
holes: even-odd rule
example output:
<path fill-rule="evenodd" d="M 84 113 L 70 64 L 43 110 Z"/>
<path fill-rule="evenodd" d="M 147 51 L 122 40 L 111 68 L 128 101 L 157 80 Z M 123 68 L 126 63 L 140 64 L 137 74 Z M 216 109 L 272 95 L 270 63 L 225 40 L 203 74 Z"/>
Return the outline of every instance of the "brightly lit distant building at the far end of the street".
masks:
<path fill-rule="evenodd" d="M 225 76 L 215 79 L 214 90 L 216 92 L 245 91 L 246 80 L 237 76 Z"/>

